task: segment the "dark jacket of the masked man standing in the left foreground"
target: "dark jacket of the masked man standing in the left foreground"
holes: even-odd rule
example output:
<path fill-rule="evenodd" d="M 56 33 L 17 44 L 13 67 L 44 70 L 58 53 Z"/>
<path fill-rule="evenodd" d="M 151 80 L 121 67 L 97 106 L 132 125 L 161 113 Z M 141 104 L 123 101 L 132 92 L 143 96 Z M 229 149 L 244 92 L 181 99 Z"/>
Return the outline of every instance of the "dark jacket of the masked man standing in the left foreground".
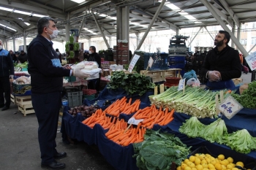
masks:
<path fill-rule="evenodd" d="M 69 77 L 70 70 L 61 67 L 52 42 L 42 35 L 37 35 L 29 44 L 28 61 L 32 93 L 51 93 L 62 90 L 63 77 Z"/>

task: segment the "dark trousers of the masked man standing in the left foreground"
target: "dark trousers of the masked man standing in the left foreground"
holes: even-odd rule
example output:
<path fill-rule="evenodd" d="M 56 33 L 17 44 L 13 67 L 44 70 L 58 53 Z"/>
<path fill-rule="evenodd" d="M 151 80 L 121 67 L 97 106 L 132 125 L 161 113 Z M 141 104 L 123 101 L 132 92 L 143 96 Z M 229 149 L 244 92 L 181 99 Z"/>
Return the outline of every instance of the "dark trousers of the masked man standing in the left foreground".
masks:
<path fill-rule="evenodd" d="M 38 140 L 42 163 L 54 161 L 56 150 L 56 134 L 61 107 L 61 92 L 31 95 L 32 105 L 37 115 Z"/>

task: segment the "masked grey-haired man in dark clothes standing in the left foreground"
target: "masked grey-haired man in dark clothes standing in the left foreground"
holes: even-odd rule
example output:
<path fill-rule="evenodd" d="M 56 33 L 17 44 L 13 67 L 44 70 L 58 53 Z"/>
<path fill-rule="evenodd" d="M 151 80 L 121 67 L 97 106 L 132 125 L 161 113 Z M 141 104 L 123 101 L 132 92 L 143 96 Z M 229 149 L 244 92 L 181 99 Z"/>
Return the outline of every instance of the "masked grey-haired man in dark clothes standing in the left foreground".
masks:
<path fill-rule="evenodd" d="M 53 49 L 53 40 L 58 36 L 55 20 L 50 17 L 39 18 L 38 35 L 28 48 L 31 75 L 31 101 L 39 124 L 38 140 L 41 151 L 41 167 L 64 169 L 65 164 L 56 159 L 64 158 L 66 152 L 56 150 L 56 131 L 61 107 L 63 77 L 89 77 L 81 68 L 70 70 L 62 67 L 59 56 Z"/>

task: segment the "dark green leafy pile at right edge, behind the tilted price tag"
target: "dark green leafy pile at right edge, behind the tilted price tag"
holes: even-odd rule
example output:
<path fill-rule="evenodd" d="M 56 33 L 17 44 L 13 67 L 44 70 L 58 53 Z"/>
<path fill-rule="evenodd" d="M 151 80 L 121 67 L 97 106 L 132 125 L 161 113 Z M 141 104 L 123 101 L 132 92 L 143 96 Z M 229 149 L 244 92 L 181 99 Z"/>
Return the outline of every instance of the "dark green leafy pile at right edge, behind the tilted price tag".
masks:
<path fill-rule="evenodd" d="M 256 81 L 253 81 L 248 84 L 248 88 L 241 93 L 238 94 L 231 94 L 233 98 L 243 106 L 249 109 L 256 109 Z"/>

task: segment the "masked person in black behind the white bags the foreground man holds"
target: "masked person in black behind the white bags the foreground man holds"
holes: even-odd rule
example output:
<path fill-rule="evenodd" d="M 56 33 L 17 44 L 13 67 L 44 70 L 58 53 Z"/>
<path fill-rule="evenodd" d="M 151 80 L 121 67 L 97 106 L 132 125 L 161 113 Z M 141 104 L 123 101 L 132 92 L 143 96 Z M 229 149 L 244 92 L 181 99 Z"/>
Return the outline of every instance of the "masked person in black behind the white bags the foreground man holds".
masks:
<path fill-rule="evenodd" d="M 96 53 L 96 47 L 91 46 L 89 48 L 89 58 L 87 61 L 96 61 L 99 65 L 99 68 L 101 68 L 101 58 L 98 53 Z M 99 73 L 99 78 L 97 80 L 90 80 L 88 83 L 88 88 L 89 89 L 96 89 L 97 92 L 99 92 L 99 82 L 100 82 L 100 76 L 101 74 Z"/>

